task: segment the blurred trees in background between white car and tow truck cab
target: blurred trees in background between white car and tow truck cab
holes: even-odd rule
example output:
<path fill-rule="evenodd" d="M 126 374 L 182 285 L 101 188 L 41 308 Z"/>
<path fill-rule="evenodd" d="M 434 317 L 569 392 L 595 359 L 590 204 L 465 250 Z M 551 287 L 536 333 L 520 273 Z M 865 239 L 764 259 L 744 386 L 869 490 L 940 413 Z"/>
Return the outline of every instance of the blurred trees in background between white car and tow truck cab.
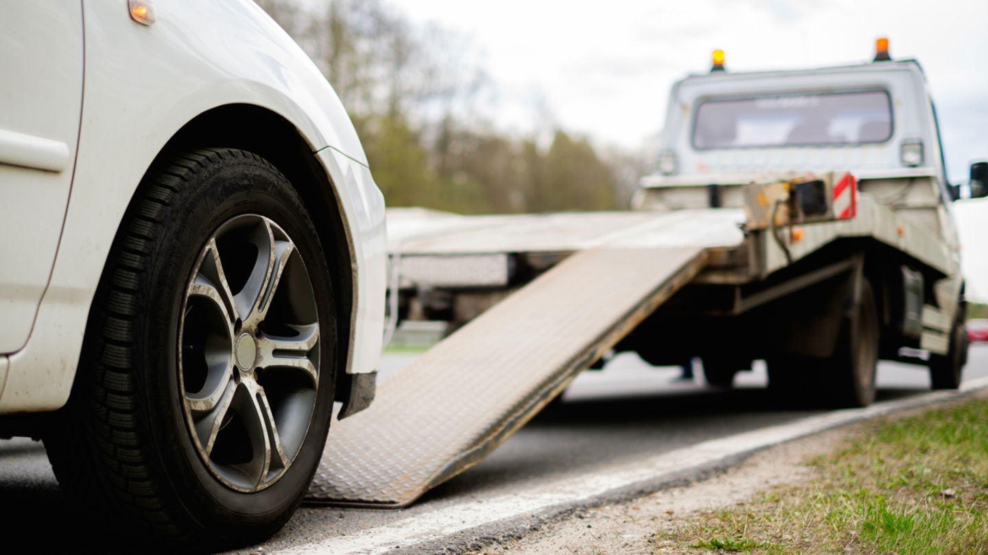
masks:
<path fill-rule="evenodd" d="M 643 157 L 560 128 L 499 129 L 499 92 L 468 37 L 411 22 L 386 0 L 256 0 L 332 83 L 388 206 L 460 213 L 627 207 Z M 535 95 L 537 97 L 537 95 Z"/>

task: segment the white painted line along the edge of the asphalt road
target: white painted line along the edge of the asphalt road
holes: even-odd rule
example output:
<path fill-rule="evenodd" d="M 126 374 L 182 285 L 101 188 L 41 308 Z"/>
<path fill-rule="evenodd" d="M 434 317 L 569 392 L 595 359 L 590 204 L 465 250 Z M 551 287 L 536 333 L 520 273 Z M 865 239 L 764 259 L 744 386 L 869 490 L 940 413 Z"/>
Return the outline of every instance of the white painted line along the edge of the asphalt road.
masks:
<path fill-rule="evenodd" d="M 534 515 L 554 506 L 572 505 L 611 492 L 627 490 L 636 484 L 654 482 L 689 468 L 717 463 L 729 457 L 895 411 L 947 401 L 986 387 L 988 387 L 988 376 L 965 382 L 959 393 L 935 391 L 909 399 L 878 403 L 864 409 L 832 411 L 789 424 L 703 441 L 633 463 L 600 468 L 592 474 L 547 482 L 511 495 L 482 502 L 474 499 L 465 500 L 431 513 L 409 516 L 357 534 L 331 537 L 268 553 L 373 555 L 386 553 L 395 546 L 408 548 L 421 543 L 440 541 L 451 534 L 470 528 L 509 518 Z"/>

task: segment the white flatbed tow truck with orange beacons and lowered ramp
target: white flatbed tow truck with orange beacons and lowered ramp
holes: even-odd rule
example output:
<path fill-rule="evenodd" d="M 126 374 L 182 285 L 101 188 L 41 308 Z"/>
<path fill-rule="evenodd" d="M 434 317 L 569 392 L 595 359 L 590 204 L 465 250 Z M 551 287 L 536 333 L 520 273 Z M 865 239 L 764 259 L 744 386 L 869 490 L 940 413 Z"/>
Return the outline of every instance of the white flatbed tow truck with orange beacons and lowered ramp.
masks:
<path fill-rule="evenodd" d="M 770 387 L 808 404 L 867 405 L 879 358 L 959 385 L 962 188 L 917 62 L 887 42 L 806 71 L 715 55 L 673 87 L 661 141 L 632 211 L 390 211 L 392 314 L 455 331 L 334 424 L 310 502 L 406 506 L 614 350 L 700 357 L 725 387 L 765 359 Z M 988 193 L 986 166 L 967 196 Z"/>

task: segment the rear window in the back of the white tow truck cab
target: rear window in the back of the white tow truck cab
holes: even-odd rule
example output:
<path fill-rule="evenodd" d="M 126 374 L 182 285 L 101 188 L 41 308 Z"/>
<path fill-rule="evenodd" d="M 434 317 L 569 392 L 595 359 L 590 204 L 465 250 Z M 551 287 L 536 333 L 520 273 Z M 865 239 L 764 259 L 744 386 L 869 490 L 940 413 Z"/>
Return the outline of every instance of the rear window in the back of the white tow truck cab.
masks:
<path fill-rule="evenodd" d="M 892 136 L 885 91 L 782 94 L 700 102 L 693 145 L 708 148 L 825 146 Z"/>

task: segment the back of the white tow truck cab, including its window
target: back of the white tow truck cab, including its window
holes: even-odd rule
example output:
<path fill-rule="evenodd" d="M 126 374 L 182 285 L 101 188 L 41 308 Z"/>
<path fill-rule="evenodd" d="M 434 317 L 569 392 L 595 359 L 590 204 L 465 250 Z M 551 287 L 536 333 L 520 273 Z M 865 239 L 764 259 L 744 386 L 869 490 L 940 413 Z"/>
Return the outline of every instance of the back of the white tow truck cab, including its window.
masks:
<path fill-rule="evenodd" d="M 690 75 L 673 85 L 660 145 L 660 171 L 646 187 L 793 171 L 944 175 L 915 60 Z"/>

